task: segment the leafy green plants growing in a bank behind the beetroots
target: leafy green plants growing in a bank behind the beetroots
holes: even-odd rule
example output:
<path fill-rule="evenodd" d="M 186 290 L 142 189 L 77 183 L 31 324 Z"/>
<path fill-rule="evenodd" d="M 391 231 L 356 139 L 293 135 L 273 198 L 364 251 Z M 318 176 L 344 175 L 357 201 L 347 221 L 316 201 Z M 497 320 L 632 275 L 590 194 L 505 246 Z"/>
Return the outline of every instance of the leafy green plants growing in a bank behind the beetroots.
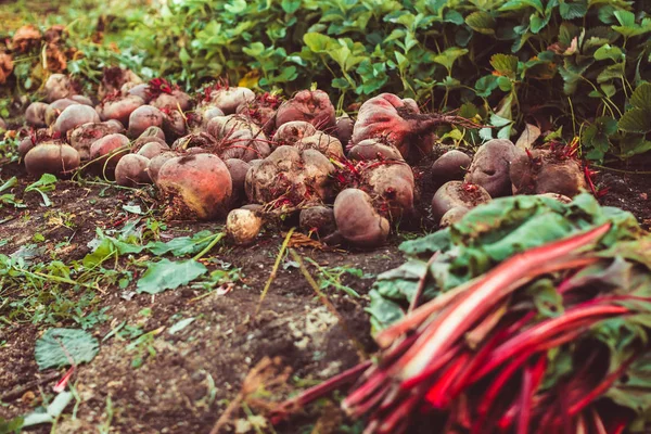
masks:
<path fill-rule="evenodd" d="M 478 135 L 442 131 L 446 139 L 514 138 L 525 120 L 551 120 L 552 130 L 564 127 L 565 140 L 580 137 L 590 158 L 649 149 L 649 117 L 629 101 L 651 79 L 651 16 L 643 2 L 133 2 L 64 10 L 72 21 L 66 44 L 84 54 L 68 62 L 68 72 L 97 82 L 104 65 L 120 65 L 192 90 L 222 77 L 285 94 L 318 82 L 339 98 L 340 110 L 390 91 L 430 110 L 472 103 L 492 127 Z M 95 43 L 97 23 L 112 14 L 103 43 Z M 34 79 L 35 54 L 17 63 L 18 89 Z M 610 132 L 613 122 L 618 129 Z"/>

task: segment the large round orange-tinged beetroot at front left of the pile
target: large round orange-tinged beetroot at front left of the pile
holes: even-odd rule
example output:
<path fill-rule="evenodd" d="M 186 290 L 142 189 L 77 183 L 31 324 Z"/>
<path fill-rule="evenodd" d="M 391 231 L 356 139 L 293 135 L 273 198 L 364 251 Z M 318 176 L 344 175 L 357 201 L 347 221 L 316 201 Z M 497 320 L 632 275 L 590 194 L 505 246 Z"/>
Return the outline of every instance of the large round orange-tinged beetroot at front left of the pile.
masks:
<path fill-rule="evenodd" d="M 156 186 L 170 202 L 174 218 L 209 220 L 225 215 L 232 193 L 226 164 L 213 154 L 196 154 L 167 161 Z"/>

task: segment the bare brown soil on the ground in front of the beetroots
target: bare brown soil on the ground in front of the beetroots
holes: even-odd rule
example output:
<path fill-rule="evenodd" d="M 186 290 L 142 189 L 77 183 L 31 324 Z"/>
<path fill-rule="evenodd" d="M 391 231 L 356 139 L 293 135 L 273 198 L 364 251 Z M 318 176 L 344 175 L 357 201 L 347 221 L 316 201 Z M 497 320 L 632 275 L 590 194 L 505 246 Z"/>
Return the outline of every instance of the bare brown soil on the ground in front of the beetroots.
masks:
<path fill-rule="evenodd" d="M 422 168 L 418 173 L 420 202 L 429 203 L 434 192 L 429 181 L 431 174 Z M 27 207 L 0 208 L 0 240 L 7 241 L 0 244 L 0 254 L 10 254 L 33 243 L 34 235 L 40 233 L 44 238 L 38 243 L 44 247 L 39 253 L 40 258 L 56 257 L 69 263 L 90 252 L 87 244 L 94 238 L 95 228 L 124 226 L 127 213 L 123 205 L 140 204 L 143 209 L 153 206 L 153 215 L 162 215 L 148 190 L 133 193 L 72 181 L 58 183 L 56 191 L 49 194 L 53 205 L 46 208 L 40 206 L 38 193 L 23 192 L 33 180 L 27 179 L 22 167 L 16 164 L 0 166 L 0 178 L 8 179 L 13 175 L 20 179 L 20 187 L 13 192 Z M 646 228 L 651 226 L 650 176 L 603 170 L 597 177 L 597 183 L 610 189 L 601 200 L 603 204 L 628 209 Z M 420 210 L 424 213 L 424 208 Z M 170 221 L 166 233 L 179 235 L 217 228 L 212 222 Z M 91 329 L 98 339 L 104 339 L 123 321 L 128 326 L 140 326 L 145 332 L 159 332 L 150 345 L 132 350 L 128 346 L 133 341 L 127 337 L 114 335 L 102 342 L 99 355 L 89 365 L 80 366 L 74 376 L 79 396 L 76 419 L 68 408 L 55 432 L 94 433 L 106 426 L 103 432 L 207 433 L 229 400 L 237 396 L 246 373 L 266 356 L 279 356 L 283 365 L 292 369 L 290 383 L 275 391 L 268 399 L 288 396 L 355 365 L 359 360 L 358 354 L 342 327 L 336 324 L 336 318 L 317 299 L 299 270 L 286 260 L 285 267 L 280 267 L 259 315 L 254 317 L 282 240 L 283 233 L 271 230 L 254 246 L 222 246 L 206 255 L 204 259 L 231 263 L 242 269 L 243 280 L 224 295 L 213 292 L 200 297 L 204 292 L 190 286 L 155 296 L 131 294 L 133 283 L 125 290 L 117 285 L 102 288 L 88 309 L 106 308 L 105 314 L 110 316 L 107 321 Z M 344 279 L 345 284 L 361 294 L 360 298 L 328 291 L 346 327 L 367 352 L 374 349 L 363 311 L 368 304 L 366 294 L 373 281 L 370 277 L 401 263 L 398 241 L 395 238 L 390 245 L 370 252 L 299 248 L 304 257 L 311 257 L 321 266 L 349 265 L 367 275 L 363 279 L 350 276 Z M 204 261 L 213 270 L 219 268 L 218 260 Z M 310 267 L 310 271 L 315 269 Z M 71 291 L 65 295 L 75 301 L 84 293 Z M 9 314 L 9 309 L 0 307 L 0 319 Z M 190 317 L 195 318 L 194 322 L 169 334 L 174 323 Z M 39 372 L 34 346 L 49 327 L 78 327 L 65 315 L 62 318 L 50 324 L 10 319 L 0 327 L 0 396 L 52 373 L 52 370 Z M 135 368 L 132 362 L 140 355 L 143 356 L 142 366 Z M 60 370 L 60 375 L 63 372 Z M 42 394 L 52 396 L 53 383 L 55 380 L 33 385 L 18 396 L 4 399 L 0 405 L 0 418 L 24 414 L 41 405 Z M 110 407 L 108 401 L 112 403 Z M 258 411 L 255 406 L 252 408 L 254 412 Z M 329 421 L 336 423 L 330 423 L 334 427 L 328 432 L 355 432 L 352 423 L 346 422 L 335 408 L 326 404 L 311 406 L 308 413 L 278 426 L 277 432 L 310 432 L 315 423 L 324 426 Z M 244 413 L 239 411 L 235 419 L 243 417 Z M 50 432 L 50 426 L 40 426 L 35 432 Z"/>

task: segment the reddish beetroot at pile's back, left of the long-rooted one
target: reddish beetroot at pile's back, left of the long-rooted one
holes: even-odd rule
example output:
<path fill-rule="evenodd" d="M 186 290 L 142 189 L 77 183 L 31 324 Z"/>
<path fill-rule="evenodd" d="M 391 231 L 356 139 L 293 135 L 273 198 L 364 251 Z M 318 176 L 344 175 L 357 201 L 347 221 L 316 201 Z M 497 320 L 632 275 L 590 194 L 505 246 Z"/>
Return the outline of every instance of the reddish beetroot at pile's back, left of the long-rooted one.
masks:
<path fill-rule="evenodd" d="M 276 128 L 292 120 L 305 120 L 322 131 L 335 128 L 334 105 L 322 90 L 302 90 L 280 105 Z"/>

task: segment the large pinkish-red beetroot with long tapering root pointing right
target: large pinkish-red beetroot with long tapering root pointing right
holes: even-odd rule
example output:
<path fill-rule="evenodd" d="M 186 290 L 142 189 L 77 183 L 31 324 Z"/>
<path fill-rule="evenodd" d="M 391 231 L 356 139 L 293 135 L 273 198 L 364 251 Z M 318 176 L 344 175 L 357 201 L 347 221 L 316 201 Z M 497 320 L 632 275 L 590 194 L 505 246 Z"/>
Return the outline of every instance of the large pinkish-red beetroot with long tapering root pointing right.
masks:
<path fill-rule="evenodd" d="M 432 150 L 433 131 L 443 124 L 476 127 L 454 115 L 421 114 L 413 100 L 382 93 L 361 104 L 350 144 L 379 139 L 396 146 L 405 159 L 413 162 Z"/>

